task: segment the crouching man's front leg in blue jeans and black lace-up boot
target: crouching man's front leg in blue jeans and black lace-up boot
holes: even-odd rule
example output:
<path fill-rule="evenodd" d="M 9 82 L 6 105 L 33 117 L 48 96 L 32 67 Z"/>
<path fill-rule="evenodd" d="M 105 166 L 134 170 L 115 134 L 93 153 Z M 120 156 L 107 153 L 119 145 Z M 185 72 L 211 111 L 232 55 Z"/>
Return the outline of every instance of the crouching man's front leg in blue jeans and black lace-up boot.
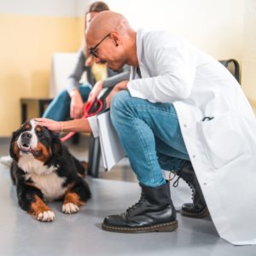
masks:
<path fill-rule="evenodd" d="M 174 171 L 189 159 L 175 109 L 172 104 L 153 104 L 131 97 L 128 91 L 121 91 L 113 96 L 110 114 L 137 174 L 142 196 L 126 212 L 105 218 L 102 229 L 114 232 L 176 230 L 170 185 L 163 177 L 157 154 L 160 150 L 169 155 L 167 159 L 172 161 L 163 161 L 163 166 Z"/>

